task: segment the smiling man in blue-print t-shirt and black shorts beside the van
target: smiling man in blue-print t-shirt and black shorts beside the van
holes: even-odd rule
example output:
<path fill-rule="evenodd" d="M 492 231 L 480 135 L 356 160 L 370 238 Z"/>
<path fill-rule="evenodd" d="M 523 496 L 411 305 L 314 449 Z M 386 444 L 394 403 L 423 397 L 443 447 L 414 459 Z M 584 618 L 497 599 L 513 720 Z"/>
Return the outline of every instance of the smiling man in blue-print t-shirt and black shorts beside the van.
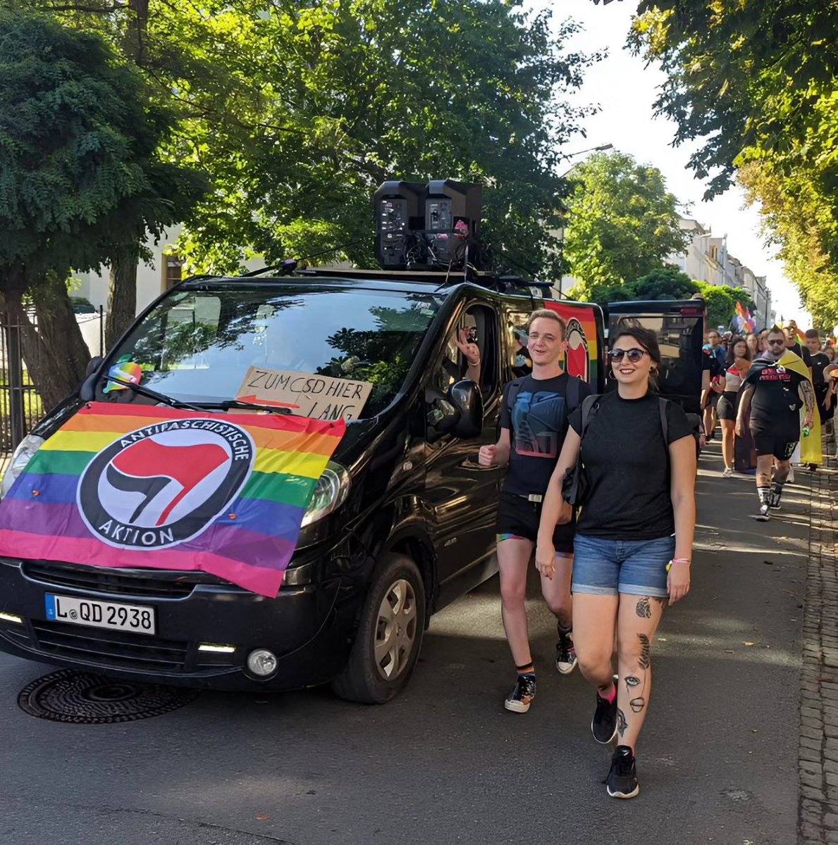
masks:
<path fill-rule="evenodd" d="M 504 706 L 525 713 L 535 697 L 535 668 L 529 651 L 524 598 L 527 571 L 538 538 L 541 503 L 567 433 L 567 417 L 591 390 L 565 373 L 559 362 L 567 349 L 567 326 L 547 308 L 534 311 L 527 325 L 527 350 L 533 371 L 507 384 L 501 406 L 501 433 L 496 444 L 481 446 L 481 466 L 508 464 L 497 515 L 497 557 L 501 570 L 501 615 L 518 674 Z M 575 521 L 556 526 L 556 570 L 541 575 L 541 592 L 556 616 L 559 641 L 556 668 L 576 666 L 572 638 L 570 584 Z"/>

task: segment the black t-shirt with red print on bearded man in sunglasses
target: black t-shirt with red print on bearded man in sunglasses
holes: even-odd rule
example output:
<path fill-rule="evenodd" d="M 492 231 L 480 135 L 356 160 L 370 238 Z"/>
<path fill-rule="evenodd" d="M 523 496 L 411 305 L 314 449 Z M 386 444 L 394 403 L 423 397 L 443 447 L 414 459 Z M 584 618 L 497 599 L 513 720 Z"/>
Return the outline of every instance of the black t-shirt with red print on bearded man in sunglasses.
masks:
<path fill-rule="evenodd" d="M 807 381 L 800 373 L 780 367 L 775 361 L 757 358 L 742 384 L 753 385 L 751 431 L 782 434 L 790 442 L 800 439 L 800 385 Z"/>

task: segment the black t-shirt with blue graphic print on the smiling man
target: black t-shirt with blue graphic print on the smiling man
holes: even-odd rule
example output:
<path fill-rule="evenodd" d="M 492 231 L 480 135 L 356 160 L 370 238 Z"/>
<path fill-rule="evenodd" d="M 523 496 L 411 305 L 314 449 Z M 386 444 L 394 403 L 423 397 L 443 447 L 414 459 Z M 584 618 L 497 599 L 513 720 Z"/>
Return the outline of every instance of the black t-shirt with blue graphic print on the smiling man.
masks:
<path fill-rule="evenodd" d="M 546 492 L 567 434 L 567 415 L 573 410 L 567 407 L 570 379 L 567 373 L 554 379 L 526 375 L 507 384 L 501 405 L 501 428 L 509 429 L 512 448 L 504 493 L 526 496 Z M 520 386 L 510 413 L 508 397 L 512 384 Z M 587 382 L 579 383 L 579 405 L 590 392 Z"/>

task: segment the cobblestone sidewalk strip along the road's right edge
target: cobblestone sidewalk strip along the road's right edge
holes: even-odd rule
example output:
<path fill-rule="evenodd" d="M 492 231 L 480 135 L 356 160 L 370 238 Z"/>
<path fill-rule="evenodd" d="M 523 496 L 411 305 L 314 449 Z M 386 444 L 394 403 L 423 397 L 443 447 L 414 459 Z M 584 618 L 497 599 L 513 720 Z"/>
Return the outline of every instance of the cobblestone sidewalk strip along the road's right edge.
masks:
<path fill-rule="evenodd" d="M 803 622 L 799 842 L 838 842 L 838 467 L 811 474 L 811 523 Z"/>

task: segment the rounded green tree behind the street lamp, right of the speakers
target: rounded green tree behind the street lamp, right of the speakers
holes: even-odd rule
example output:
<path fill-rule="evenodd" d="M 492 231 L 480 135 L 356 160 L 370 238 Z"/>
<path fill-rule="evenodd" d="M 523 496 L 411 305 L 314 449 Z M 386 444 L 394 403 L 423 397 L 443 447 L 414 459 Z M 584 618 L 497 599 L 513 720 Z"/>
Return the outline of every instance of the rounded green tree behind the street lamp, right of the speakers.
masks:
<path fill-rule="evenodd" d="M 666 256 L 685 248 L 678 202 L 657 168 L 602 153 L 574 167 L 570 178 L 564 256 L 580 282 L 574 297 L 663 270 Z"/>

